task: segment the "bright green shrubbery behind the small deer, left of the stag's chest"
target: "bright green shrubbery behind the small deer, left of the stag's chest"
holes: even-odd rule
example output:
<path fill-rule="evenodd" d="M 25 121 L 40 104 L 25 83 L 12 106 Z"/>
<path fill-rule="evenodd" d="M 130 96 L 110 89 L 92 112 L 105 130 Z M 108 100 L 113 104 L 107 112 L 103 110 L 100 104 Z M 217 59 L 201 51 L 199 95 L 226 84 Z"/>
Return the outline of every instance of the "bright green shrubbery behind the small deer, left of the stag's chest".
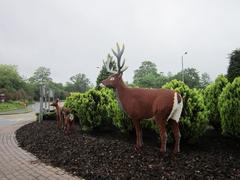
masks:
<path fill-rule="evenodd" d="M 120 110 L 112 90 L 102 88 L 90 89 L 85 93 L 72 93 L 65 106 L 73 110 L 78 117 L 82 130 L 111 127 L 121 131 L 128 129 L 123 112 Z"/>

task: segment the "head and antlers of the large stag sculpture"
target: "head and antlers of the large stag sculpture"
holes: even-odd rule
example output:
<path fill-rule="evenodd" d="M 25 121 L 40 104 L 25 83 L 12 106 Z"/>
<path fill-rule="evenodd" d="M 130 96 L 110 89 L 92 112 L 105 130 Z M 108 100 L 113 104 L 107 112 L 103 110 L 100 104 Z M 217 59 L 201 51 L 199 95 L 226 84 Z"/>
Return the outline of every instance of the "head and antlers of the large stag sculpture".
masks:
<path fill-rule="evenodd" d="M 122 46 L 122 48 L 120 48 L 119 44 L 117 43 L 117 52 L 112 49 L 114 56 L 117 58 L 117 71 L 113 70 L 113 67 L 110 68 L 110 62 L 112 61 L 112 57 L 108 55 L 107 61 L 104 62 L 104 65 L 107 68 L 107 71 L 112 74 L 107 79 L 102 81 L 101 86 L 115 88 L 121 82 L 122 74 L 128 68 L 127 66 L 125 66 L 125 59 L 121 63 L 124 48 L 124 45 Z"/>

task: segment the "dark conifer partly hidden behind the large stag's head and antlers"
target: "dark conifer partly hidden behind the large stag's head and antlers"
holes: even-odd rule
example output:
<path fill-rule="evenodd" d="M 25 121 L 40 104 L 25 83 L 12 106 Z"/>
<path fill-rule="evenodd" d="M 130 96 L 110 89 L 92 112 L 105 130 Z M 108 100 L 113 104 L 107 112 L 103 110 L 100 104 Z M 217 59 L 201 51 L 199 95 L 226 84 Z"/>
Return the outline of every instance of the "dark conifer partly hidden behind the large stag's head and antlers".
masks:
<path fill-rule="evenodd" d="M 110 54 L 108 54 L 107 59 L 110 59 L 110 65 L 109 65 L 110 68 L 113 67 L 113 69 L 116 70 L 116 63 L 115 63 L 115 61 L 112 60 L 112 56 Z M 103 62 L 105 63 L 104 60 L 103 60 Z M 111 73 L 107 71 L 105 64 L 103 64 L 102 69 L 97 77 L 96 86 L 98 87 L 99 84 L 102 82 L 102 80 L 106 79 L 110 75 L 111 75 Z"/>

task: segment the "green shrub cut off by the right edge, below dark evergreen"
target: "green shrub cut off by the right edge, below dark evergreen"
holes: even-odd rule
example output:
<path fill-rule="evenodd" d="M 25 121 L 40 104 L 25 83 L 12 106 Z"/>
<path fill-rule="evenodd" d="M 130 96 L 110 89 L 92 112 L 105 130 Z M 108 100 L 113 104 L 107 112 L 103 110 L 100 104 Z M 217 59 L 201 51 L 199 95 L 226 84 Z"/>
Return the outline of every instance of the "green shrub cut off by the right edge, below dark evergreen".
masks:
<path fill-rule="evenodd" d="M 219 97 L 223 134 L 240 136 L 240 77 L 228 83 Z"/>

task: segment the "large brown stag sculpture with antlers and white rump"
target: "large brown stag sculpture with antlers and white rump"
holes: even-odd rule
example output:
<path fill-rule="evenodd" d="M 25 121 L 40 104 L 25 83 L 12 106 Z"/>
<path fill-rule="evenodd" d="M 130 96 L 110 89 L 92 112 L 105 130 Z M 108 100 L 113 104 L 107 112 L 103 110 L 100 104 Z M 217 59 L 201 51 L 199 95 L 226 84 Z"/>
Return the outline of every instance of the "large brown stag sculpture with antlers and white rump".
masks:
<path fill-rule="evenodd" d="M 117 52 L 114 50 L 112 50 L 112 52 L 117 59 L 117 71 L 114 71 L 109 67 L 111 56 L 108 56 L 105 66 L 112 75 L 103 80 L 101 86 L 115 89 L 120 106 L 132 119 L 136 131 L 135 148 L 140 149 L 143 145 L 140 121 L 142 119 L 153 118 L 160 129 L 160 152 L 166 152 L 167 122 L 171 123 L 171 128 L 174 134 L 175 144 L 173 152 L 180 152 L 181 134 L 179 130 L 179 119 L 183 108 L 183 99 L 181 95 L 169 89 L 127 87 L 122 80 L 122 74 L 127 69 L 127 66 L 125 66 L 125 60 L 121 64 L 124 45 L 120 49 L 117 44 Z"/>

